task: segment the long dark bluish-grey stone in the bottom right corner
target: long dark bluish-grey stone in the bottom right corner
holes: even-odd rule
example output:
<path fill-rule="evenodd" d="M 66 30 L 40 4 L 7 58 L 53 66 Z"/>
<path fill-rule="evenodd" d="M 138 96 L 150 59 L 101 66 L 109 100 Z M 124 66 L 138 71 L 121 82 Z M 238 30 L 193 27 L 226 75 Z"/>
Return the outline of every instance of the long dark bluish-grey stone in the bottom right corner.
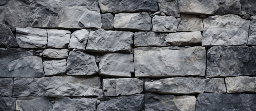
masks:
<path fill-rule="evenodd" d="M 201 93 L 196 100 L 196 111 L 254 111 L 256 94 Z"/>

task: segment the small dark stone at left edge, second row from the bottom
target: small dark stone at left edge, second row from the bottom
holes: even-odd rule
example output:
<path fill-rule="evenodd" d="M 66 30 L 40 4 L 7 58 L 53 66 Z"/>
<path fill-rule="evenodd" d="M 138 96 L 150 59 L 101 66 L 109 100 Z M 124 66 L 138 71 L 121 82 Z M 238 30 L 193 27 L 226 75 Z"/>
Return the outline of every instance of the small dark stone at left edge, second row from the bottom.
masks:
<path fill-rule="evenodd" d="M 13 78 L 0 78 L 0 83 L 1 83 L 0 96 L 12 96 L 13 95 Z M 0 106 L 0 109 L 1 109 L 1 106 Z"/>

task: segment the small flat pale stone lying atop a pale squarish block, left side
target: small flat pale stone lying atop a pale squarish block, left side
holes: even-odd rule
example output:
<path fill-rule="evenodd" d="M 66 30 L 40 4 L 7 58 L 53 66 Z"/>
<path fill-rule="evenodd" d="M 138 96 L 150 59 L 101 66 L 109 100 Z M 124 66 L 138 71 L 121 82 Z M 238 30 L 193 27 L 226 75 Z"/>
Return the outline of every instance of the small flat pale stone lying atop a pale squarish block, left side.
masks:
<path fill-rule="evenodd" d="M 42 55 L 47 58 L 66 59 L 68 53 L 69 49 L 44 49 Z"/>

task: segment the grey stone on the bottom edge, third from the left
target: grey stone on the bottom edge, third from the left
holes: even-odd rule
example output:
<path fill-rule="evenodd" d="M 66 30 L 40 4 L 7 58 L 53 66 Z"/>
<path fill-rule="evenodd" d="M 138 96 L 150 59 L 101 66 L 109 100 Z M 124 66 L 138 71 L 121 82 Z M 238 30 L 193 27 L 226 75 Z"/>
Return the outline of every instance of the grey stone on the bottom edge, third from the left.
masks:
<path fill-rule="evenodd" d="M 52 111 L 96 111 L 96 107 L 96 99 L 61 97 L 55 99 Z"/>

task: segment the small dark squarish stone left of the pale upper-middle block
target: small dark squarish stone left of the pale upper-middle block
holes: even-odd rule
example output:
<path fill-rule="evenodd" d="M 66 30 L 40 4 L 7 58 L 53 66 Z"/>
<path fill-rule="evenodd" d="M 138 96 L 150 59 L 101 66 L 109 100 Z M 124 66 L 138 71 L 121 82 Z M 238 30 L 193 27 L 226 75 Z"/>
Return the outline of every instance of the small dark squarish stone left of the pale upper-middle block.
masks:
<path fill-rule="evenodd" d="M 101 14 L 102 28 L 111 30 L 114 28 L 114 16 L 111 13 Z"/>

